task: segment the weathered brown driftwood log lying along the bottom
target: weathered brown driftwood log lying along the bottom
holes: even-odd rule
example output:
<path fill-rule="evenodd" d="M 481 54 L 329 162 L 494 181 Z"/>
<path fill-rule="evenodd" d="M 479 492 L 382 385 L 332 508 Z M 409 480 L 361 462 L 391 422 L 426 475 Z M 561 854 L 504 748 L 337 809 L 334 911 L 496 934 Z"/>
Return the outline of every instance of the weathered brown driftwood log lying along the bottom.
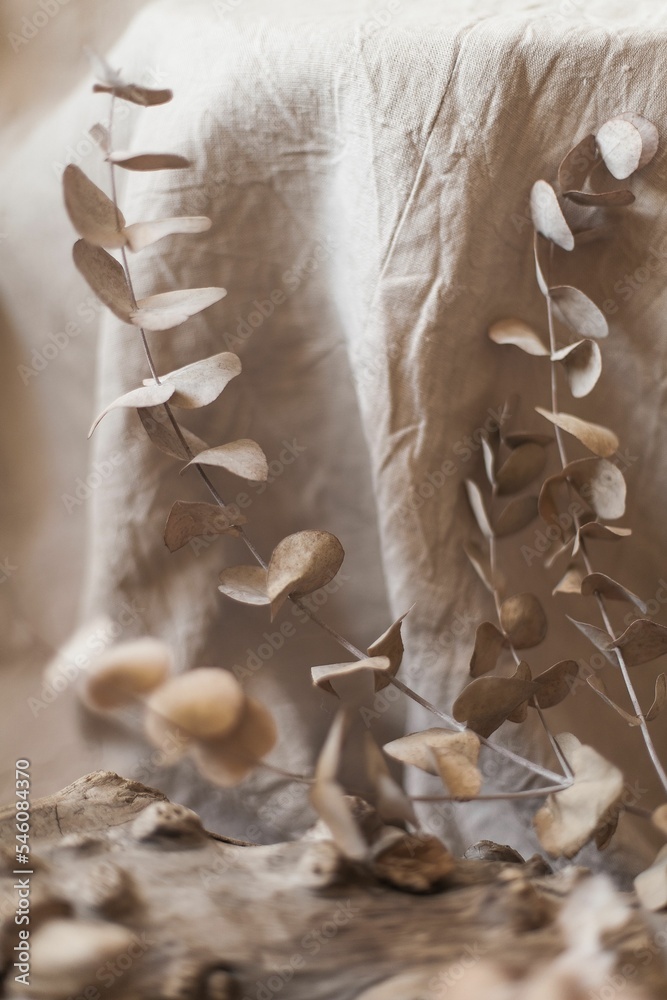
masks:
<path fill-rule="evenodd" d="M 364 822 L 386 836 L 372 812 Z M 435 850 L 429 862 L 418 850 L 415 869 L 414 843 L 402 842 L 373 873 L 342 861 L 321 831 L 244 845 L 105 772 L 35 802 L 31 827 L 32 957 L 22 987 L 13 967 L 14 813 L 0 814 L 3 995 L 36 1000 L 351 1000 L 366 991 L 369 1000 L 486 1000 L 482 970 L 504 970 L 520 990 L 551 967 L 563 951 L 558 914 L 590 881 L 583 869 L 551 874 L 538 857 L 521 863 L 493 846 L 460 861 Z M 413 889 L 422 879 L 432 891 L 401 891 L 378 873 Z M 610 996 L 667 996 L 638 909 L 605 946 L 615 969 L 625 967 Z M 626 994 L 640 983 L 641 994 Z"/>

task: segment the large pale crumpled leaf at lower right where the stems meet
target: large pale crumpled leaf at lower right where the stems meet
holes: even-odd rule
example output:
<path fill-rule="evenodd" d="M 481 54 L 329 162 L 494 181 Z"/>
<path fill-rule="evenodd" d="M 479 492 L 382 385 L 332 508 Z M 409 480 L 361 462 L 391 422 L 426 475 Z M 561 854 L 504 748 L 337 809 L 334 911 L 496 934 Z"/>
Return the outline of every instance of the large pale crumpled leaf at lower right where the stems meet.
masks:
<path fill-rule="evenodd" d="M 569 736 L 569 734 L 565 734 Z M 563 737 L 559 737 L 561 741 Z M 592 747 L 569 737 L 574 772 L 569 788 L 551 794 L 533 820 L 540 844 L 554 857 L 573 857 L 594 836 L 623 793 L 623 775 Z"/>

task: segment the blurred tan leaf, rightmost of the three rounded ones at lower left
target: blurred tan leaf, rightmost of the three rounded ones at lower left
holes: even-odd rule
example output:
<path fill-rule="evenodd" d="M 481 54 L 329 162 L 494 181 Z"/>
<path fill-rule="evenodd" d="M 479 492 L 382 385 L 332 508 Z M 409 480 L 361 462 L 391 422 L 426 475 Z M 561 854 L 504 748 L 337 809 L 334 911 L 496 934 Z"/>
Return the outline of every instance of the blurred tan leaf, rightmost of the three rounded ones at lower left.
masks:
<path fill-rule="evenodd" d="M 232 788 L 255 770 L 276 740 L 271 713 L 254 698 L 246 697 L 236 727 L 226 736 L 196 740 L 192 755 L 205 778 L 221 788 Z"/>

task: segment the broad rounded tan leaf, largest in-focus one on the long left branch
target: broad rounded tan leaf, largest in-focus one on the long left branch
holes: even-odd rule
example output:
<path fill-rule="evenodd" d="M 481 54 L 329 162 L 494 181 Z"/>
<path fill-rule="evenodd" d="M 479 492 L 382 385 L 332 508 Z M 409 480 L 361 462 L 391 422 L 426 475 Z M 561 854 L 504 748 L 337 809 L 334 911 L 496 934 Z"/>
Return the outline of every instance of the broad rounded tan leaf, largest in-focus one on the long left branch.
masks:
<path fill-rule="evenodd" d="M 326 586 L 344 557 L 343 546 L 329 531 L 297 531 L 278 542 L 267 577 L 271 618 L 289 596 L 303 597 Z"/>

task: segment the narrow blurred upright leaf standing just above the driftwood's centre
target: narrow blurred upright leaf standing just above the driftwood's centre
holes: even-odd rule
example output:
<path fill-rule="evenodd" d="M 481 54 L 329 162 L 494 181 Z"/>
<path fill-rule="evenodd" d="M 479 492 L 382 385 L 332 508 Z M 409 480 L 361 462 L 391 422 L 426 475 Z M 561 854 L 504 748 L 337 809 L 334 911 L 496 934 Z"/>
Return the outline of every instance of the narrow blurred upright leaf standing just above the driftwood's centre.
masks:
<path fill-rule="evenodd" d="M 318 758 L 310 801 L 340 851 L 348 858 L 361 861 L 368 854 L 366 841 L 336 781 L 346 729 L 347 716 L 341 711 L 331 725 Z"/>

